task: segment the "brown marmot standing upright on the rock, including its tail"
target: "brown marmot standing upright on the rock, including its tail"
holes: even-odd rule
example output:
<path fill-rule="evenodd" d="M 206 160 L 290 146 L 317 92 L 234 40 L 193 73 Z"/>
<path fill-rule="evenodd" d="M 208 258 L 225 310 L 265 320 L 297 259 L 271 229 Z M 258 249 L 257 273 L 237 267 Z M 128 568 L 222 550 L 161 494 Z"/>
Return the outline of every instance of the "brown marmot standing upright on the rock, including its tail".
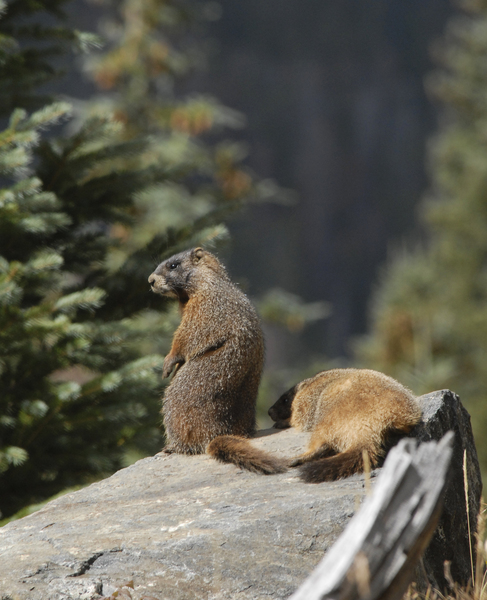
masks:
<path fill-rule="evenodd" d="M 266 474 L 286 470 L 283 461 L 244 439 L 255 431 L 264 362 L 264 337 L 248 298 L 202 248 L 165 260 L 149 283 L 152 291 L 176 298 L 182 313 L 162 373 L 165 378 L 175 369 L 162 409 L 164 451 L 207 451 L 223 462 Z"/>

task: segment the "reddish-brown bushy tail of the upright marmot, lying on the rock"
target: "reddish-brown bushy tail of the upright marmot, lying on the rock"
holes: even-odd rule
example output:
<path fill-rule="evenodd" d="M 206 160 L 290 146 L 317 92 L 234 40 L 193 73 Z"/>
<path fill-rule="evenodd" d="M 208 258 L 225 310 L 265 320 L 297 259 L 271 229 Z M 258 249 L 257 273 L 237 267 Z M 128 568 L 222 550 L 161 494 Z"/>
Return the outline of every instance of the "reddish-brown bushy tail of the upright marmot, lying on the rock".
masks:
<path fill-rule="evenodd" d="M 287 471 L 286 461 L 254 448 L 246 438 L 235 435 L 220 435 L 206 447 L 206 453 L 224 463 L 233 463 L 237 467 L 274 475 Z"/>

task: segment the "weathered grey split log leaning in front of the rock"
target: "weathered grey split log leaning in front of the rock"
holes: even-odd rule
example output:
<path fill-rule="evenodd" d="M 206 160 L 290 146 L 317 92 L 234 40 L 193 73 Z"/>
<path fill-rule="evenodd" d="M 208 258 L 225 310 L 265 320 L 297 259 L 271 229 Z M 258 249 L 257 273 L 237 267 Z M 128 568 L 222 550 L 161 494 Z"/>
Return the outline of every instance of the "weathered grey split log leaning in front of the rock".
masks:
<path fill-rule="evenodd" d="M 441 514 L 454 434 L 402 440 L 374 491 L 289 600 L 397 600 Z"/>

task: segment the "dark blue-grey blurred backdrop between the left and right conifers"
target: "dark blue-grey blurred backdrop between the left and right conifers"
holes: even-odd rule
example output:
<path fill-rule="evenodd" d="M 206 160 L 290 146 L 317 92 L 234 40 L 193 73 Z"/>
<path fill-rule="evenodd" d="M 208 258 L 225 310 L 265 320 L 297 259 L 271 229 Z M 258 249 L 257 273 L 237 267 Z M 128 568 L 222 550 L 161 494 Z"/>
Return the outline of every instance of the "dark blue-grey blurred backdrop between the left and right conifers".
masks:
<path fill-rule="evenodd" d="M 437 124 L 424 79 L 451 13 L 443 0 L 230 0 L 210 29 L 198 89 L 246 116 L 249 164 L 295 192 L 231 221 L 230 264 L 252 293 L 331 303 L 301 352 L 350 356 L 378 267 L 417 225 Z M 286 350 L 271 345 L 269 362 Z"/>

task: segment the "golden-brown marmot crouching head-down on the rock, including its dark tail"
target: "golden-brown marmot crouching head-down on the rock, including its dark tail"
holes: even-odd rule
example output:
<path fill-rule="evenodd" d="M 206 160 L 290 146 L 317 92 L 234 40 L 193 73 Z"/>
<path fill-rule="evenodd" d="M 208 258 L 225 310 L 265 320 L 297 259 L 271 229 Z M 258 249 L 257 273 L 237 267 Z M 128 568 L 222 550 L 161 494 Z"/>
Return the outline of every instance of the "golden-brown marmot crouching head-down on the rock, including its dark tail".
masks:
<path fill-rule="evenodd" d="M 408 433 L 421 418 L 413 393 L 392 377 L 368 369 L 332 369 L 305 379 L 269 409 L 275 427 L 310 431 L 308 450 L 289 466 L 309 483 L 334 481 L 372 468 L 392 434 Z"/>

